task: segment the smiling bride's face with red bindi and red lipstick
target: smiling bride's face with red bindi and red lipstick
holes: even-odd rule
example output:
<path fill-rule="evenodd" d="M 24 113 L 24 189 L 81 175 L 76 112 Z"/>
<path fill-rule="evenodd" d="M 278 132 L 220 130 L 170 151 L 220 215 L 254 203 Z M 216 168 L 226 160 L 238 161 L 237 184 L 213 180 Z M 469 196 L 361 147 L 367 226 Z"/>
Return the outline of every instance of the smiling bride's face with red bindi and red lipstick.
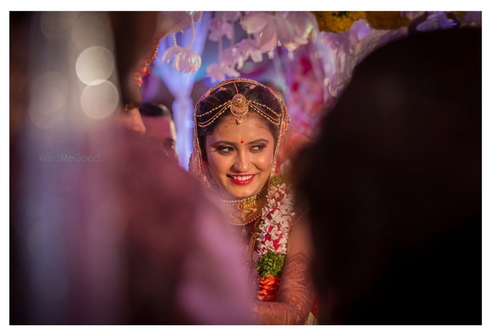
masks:
<path fill-rule="evenodd" d="M 246 198 L 260 192 L 273 167 L 274 138 L 265 120 L 248 116 L 237 124 L 225 117 L 206 138 L 212 178 L 222 198 Z"/>

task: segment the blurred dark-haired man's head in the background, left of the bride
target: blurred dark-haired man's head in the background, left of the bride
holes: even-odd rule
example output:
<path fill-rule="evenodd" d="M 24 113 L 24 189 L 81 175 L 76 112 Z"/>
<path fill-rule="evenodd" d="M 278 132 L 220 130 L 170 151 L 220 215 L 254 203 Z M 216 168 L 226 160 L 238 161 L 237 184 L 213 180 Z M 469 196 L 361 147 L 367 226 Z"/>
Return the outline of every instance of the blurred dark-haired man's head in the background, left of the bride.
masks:
<path fill-rule="evenodd" d="M 145 136 L 163 144 L 167 155 L 177 156 L 176 126 L 172 112 L 164 105 L 143 103 L 140 114 L 146 128 Z"/>

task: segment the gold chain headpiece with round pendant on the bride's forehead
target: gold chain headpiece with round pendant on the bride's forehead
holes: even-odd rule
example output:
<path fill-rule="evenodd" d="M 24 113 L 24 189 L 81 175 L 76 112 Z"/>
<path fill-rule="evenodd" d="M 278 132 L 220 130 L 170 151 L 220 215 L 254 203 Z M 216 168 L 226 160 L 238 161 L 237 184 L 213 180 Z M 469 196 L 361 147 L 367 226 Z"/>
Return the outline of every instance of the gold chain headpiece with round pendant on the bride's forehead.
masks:
<path fill-rule="evenodd" d="M 196 123 L 199 127 L 207 127 L 207 126 L 211 125 L 215 120 L 218 119 L 218 117 L 220 117 L 222 114 L 224 114 L 227 111 L 227 109 L 230 110 L 230 113 L 234 117 L 237 117 L 235 122 L 237 122 L 237 124 L 240 124 L 242 122 L 242 117 L 244 117 L 249 112 L 249 108 L 251 108 L 254 112 L 260 114 L 266 120 L 270 121 L 273 125 L 279 126 L 279 124 L 281 123 L 281 114 L 280 113 L 273 111 L 273 109 L 271 109 L 270 107 L 268 107 L 264 104 L 261 104 L 261 103 L 258 103 L 258 102 L 252 101 L 252 100 L 248 100 L 246 98 L 246 96 L 239 93 L 239 89 L 237 88 L 237 84 L 235 84 L 235 83 L 236 82 L 247 82 L 247 83 L 253 83 L 254 85 L 262 85 L 262 84 L 255 82 L 255 81 L 252 81 L 250 79 L 249 80 L 243 80 L 242 78 L 239 78 L 239 80 L 233 79 L 233 80 L 221 82 L 221 83 L 219 83 L 219 85 L 222 86 L 224 84 L 229 83 L 230 81 L 232 81 L 234 83 L 235 91 L 237 92 L 237 94 L 235 96 L 233 96 L 232 99 L 224 102 L 221 105 L 218 105 L 217 107 L 211 109 L 210 111 L 196 115 L 196 118 L 200 118 L 200 117 L 203 117 L 206 115 L 210 115 L 213 112 L 217 111 L 217 112 L 215 112 L 215 114 L 213 114 L 206 121 L 197 121 L 197 119 L 196 119 Z M 217 85 L 214 86 L 213 88 L 211 88 L 210 90 L 208 90 L 208 92 L 204 95 L 204 97 L 209 95 L 216 88 L 217 88 Z M 273 116 L 269 116 L 268 113 L 266 113 L 262 110 L 262 108 L 268 109 L 270 112 L 273 113 Z"/>

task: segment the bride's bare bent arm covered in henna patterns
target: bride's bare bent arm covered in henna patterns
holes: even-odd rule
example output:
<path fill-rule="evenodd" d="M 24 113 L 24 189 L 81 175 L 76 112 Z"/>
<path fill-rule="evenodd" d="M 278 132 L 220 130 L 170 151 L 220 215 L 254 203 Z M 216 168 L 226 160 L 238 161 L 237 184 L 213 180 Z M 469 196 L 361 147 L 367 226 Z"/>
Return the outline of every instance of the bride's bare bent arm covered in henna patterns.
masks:
<path fill-rule="evenodd" d="M 305 216 L 294 225 L 288 240 L 283 276 L 276 302 L 258 301 L 252 312 L 259 324 L 304 324 L 315 298 L 310 275 L 310 227 Z"/>

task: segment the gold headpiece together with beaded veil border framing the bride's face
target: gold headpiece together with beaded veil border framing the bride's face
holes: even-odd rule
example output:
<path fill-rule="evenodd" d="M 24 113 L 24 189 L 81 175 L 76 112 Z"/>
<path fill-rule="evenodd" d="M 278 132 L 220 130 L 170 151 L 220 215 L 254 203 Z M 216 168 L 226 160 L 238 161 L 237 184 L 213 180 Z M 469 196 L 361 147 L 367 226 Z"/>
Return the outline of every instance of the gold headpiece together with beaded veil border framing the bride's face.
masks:
<path fill-rule="evenodd" d="M 232 99 L 230 99 L 229 101 L 224 102 L 223 104 L 211 109 L 210 111 L 198 115 L 197 110 L 198 110 L 199 101 L 201 101 L 203 98 L 206 98 L 207 96 L 210 96 L 210 94 L 213 91 L 229 83 L 234 84 L 237 94 L 233 96 Z M 261 115 L 266 120 L 273 123 L 275 126 L 279 126 L 278 134 L 274 135 L 276 137 L 276 141 L 275 141 L 275 148 L 274 148 L 274 155 L 273 155 L 273 169 L 271 170 L 271 176 L 273 177 L 278 173 L 278 170 L 276 168 L 276 158 L 278 155 L 278 148 L 280 148 L 281 144 L 283 143 L 283 137 L 285 135 L 286 130 L 288 129 L 288 124 L 290 123 L 290 116 L 286 111 L 286 107 L 278 97 L 276 97 L 276 99 L 278 99 L 281 105 L 280 113 L 273 111 L 273 109 L 271 109 L 270 107 L 264 104 L 248 100 L 244 95 L 239 93 L 236 83 L 248 83 L 251 85 L 263 86 L 267 88 L 273 96 L 276 97 L 273 90 L 271 90 L 270 88 L 259 82 L 256 82 L 255 80 L 247 79 L 247 78 L 232 78 L 232 79 L 224 80 L 218 83 L 217 85 L 213 86 L 199 99 L 198 103 L 194 107 L 194 115 L 193 115 L 194 127 L 192 131 L 193 143 L 192 143 L 192 153 L 189 163 L 189 171 L 192 174 L 199 176 L 207 187 L 211 187 L 210 177 L 209 177 L 209 173 L 207 172 L 208 168 L 205 167 L 205 164 L 203 162 L 203 157 L 202 157 L 201 148 L 198 139 L 198 127 L 206 127 L 212 124 L 215 120 L 218 119 L 218 117 L 220 117 L 223 113 L 225 113 L 227 109 L 229 109 L 230 113 L 237 118 L 236 119 L 237 124 L 240 124 L 242 122 L 242 118 L 246 116 L 246 114 L 250 110 L 252 110 L 258 113 L 259 115 Z M 267 109 L 268 111 L 271 111 L 273 115 L 269 116 L 268 113 L 266 113 L 263 109 Z M 212 113 L 214 114 L 212 115 Z M 207 115 L 212 115 L 212 116 L 210 116 L 210 118 L 206 121 L 203 122 L 198 121 L 199 117 L 203 117 Z"/>

